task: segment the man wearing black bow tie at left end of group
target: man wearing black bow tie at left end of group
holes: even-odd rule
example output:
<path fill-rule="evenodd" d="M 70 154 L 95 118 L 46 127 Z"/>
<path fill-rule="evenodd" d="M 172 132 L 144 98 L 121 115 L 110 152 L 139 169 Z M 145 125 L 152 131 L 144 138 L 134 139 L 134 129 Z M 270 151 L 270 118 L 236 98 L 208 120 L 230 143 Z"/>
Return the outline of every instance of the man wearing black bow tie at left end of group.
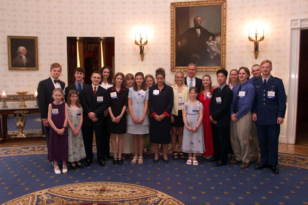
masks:
<path fill-rule="evenodd" d="M 52 103 L 52 92 L 55 88 L 64 89 L 65 83 L 59 79 L 62 67 L 58 63 L 53 63 L 50 66 L 50 77 L 40 81 L 37 87 L 37 106 L 40 110 L 41 119 L 44 125 L 46 136 L 47 149 L 49 148 L 49 133 L 50 125 L 47 119 L 48 106 Z M 49 150 L 49 149 L 48 149 Z"/>

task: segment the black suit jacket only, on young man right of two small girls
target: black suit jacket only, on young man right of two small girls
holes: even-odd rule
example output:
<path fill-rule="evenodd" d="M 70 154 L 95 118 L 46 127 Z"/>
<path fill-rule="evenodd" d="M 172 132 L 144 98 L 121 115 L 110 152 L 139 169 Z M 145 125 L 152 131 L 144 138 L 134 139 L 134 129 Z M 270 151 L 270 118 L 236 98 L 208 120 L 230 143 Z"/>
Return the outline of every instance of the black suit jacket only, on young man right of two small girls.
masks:
<path fill-rule="evenodd" d="M 103 96 L 103 102 L 98 103 L 97 97 Z M 97 93 L 94 96 L 92 86 L 86 86 L 83 89 L 82 92 L 82 107 L 84 109 L 84 117 L 83 117 L 83 123 L 86 126 L 103 126 L 104 125 L 104 111 L 107 109 L 107 101 L 108 101 L 108 95 L 107 90 L 102 88 L 101 86 L 98 86 Z M 88 113 L 94 112 L 97 115 L 97 118 L 99 119 L 96 122 L 93 122 L 89 117 Z"/>

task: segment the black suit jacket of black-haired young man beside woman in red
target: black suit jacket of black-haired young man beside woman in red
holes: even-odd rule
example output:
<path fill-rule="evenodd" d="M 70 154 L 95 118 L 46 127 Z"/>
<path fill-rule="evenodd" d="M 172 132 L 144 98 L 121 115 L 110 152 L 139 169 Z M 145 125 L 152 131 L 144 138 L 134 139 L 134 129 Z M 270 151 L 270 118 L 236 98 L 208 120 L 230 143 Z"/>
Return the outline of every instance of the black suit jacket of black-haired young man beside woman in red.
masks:
<path fill-rule="evenodd" d="M 214 120 L 217 120 L 216 127 L 230 126 L 230 104 L 233 99 L 232 90 L 226 85 L 218 93 L 218 88 L 213 91 L 209 101 L 209 114 Z M 216 97 L 221 97 L 221 104 L 216 103 Z"/>

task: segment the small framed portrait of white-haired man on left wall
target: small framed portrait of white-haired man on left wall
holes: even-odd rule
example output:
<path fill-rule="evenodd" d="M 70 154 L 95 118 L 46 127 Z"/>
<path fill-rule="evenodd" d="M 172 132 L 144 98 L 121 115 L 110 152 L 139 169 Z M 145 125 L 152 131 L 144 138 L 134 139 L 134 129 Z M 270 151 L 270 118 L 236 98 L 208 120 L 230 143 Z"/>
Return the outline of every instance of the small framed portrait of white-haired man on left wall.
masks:
<path fill-rule="evenodd" d="M 38 70 L 37 37 L 8 36 L 9 70 Z"/>

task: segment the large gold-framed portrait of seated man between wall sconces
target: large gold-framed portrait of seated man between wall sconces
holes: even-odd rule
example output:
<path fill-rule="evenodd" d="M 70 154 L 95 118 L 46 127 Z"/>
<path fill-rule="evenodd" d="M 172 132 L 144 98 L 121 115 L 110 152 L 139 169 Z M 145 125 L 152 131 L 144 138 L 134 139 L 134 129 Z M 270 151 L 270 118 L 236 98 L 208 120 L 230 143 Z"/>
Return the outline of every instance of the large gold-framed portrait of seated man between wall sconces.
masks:
<path fill-rule="evenodd" d="M 171 71 L 225 69 L 226 0 L 171 3 Z"/>

